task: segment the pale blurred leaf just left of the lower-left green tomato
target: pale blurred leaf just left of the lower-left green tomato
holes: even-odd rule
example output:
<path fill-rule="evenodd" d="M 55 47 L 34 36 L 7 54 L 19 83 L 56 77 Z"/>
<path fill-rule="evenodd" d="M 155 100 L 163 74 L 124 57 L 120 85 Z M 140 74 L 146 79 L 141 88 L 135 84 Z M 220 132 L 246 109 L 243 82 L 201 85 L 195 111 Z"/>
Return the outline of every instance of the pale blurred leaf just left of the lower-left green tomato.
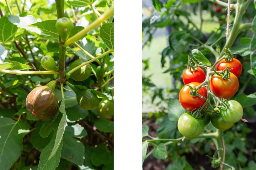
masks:
<path fill-rule="evenodd" d="M 171 121 L 178 121 L 180 116 L 186 113 L 186 110 L 181 106 L 180 101 L 176 98 L 170 98 L 168 103 L 168 117 Z"/>

